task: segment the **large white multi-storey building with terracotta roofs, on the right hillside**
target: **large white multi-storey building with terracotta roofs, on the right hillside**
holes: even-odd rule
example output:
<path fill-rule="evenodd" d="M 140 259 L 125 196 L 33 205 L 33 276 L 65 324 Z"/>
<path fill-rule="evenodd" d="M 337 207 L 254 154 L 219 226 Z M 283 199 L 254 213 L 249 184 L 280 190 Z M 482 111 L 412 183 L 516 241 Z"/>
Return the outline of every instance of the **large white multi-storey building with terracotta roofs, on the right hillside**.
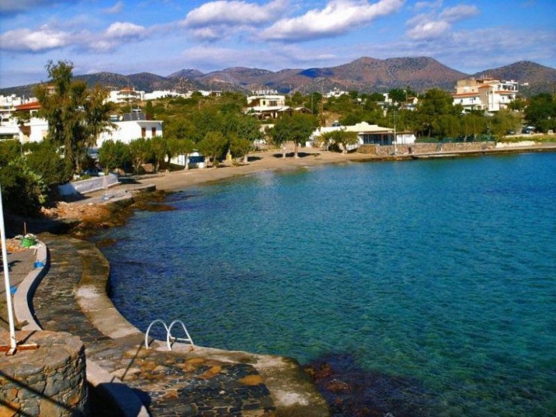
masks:
<path fill-rule="evenodd" d="M 453 104 L 461 104 L 464 111 L 499 111 L 516 99 L 517 81 L 500 81 L 491 78 L 464 79 L 457 81 Z"/>

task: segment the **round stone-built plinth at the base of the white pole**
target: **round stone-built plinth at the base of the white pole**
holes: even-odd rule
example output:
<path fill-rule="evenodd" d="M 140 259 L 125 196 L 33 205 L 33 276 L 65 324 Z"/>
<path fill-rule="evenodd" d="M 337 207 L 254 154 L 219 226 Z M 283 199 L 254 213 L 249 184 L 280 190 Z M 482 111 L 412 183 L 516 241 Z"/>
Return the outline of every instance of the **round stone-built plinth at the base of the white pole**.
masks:
<path fill-rule="evenodd" d="M 9 334 L 0 334 L 9 341 Z M 0 355 L 0 417 L 86 416 L 85 349 L 68 333 L 17 332 L 36 350 Z"/>

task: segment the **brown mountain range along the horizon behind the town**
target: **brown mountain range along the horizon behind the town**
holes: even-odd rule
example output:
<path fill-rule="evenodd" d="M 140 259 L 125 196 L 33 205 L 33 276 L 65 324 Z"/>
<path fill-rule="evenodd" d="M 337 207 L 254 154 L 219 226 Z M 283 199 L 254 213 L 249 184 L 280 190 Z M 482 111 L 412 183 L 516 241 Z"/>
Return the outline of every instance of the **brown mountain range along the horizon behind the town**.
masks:
<path fill-rule="evenodd" d="M 88 85 L 103 85 L 107 88 L 120 89 L 126 86 L 136 90 L 151 92 L 154 90 L 224 90 L 250 92 L 252 90 L 277 90 L 281 93 L 300 91 L 328 92 L 334 88 L 340 90 L 358 90 L 359 92 L 386 92 L 391 88 L 410 87 L 417 92 L 429 88 L 441 88 L 454 91 L 457 80 L 470 76 L 479 78 L 491 76 L 497 79 L 519 81 L 521 92 L 526 95 L 538 92 L 553 92 L 556 85 L 556 70 L 550 67 L 520 61 L 504 67 L 493 68 L 466 74 L 447 67 L 439 61 L 428 57 L 375 59 L 363 57 L 351 63 L 336 67 L 288 69 L 272 72 L 259 68 L 229 67 L 204 74 L 199 70 L 186 69 L 168 76 L 159 76 L 148 72 L 131 75 L 99 72 L 97 74 L 79 75 Z M 0 94 L 32 95 L 33 85 L 3 88 Z"/>

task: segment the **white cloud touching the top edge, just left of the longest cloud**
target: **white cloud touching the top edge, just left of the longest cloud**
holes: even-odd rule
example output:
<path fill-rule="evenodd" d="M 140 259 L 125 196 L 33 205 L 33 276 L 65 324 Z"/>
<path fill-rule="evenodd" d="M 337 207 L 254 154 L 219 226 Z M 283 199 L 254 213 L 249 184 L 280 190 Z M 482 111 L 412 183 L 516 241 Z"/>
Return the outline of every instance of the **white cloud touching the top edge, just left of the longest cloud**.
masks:
<path fill-rule="evenodd" d="M 236 24 L 256 26 L 270 22 L 286 8 L 286 4 L 284 0 L 273 0 L 263 6 L 238 0 L 210 1 L 191 10 L 182 24 L 188 28 Z"/>

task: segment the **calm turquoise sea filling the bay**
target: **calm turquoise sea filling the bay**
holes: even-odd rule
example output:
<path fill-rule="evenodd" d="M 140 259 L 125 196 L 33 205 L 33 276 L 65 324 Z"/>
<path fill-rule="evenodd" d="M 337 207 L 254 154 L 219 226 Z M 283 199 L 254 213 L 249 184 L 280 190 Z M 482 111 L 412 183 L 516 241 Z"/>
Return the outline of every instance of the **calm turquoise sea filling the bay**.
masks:
<path fill-rule="evenodd" d="M 167 204 L 97 237 L 143 331 L 348 354 L 407 379 L 416 416 L 556 415 L 556 154 L 263 172 Z"/>

